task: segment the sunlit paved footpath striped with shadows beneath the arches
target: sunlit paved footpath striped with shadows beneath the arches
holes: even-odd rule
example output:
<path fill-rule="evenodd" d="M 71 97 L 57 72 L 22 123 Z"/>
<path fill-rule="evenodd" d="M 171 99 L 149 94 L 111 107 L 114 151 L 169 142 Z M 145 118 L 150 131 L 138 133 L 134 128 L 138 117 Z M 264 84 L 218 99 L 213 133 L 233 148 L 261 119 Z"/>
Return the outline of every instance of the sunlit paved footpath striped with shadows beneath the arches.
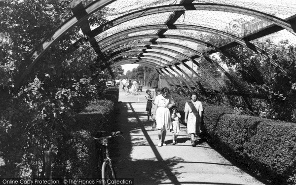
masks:
<path fill-rule="evenodd" d="M 186 128 L 181 125 L 178 143 L 157 147 L 157 130 L 147 120 L 146 89 L 139 96 L 119 93 L 119 129 L 125 140 L 117 139 L 113 157 L 116 178 L 134 178 L 135 185 L 264 185 L 233 166 L 206 142 L 191 147 Z M 154 92 L 153 92 L 154 93 Z"/>

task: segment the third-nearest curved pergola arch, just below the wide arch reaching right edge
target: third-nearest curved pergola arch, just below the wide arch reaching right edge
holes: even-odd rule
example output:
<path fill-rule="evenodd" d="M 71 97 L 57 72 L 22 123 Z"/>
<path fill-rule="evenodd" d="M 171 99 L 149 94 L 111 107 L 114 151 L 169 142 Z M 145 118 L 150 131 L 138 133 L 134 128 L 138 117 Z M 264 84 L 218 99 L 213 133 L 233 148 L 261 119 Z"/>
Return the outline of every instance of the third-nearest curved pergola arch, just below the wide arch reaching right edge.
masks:
<path fill-rule="evenodd" d="M 106 37 L 102 40 L 99 40 L 98 42 L 103 45 L 107 42 L 109 42 L 110 40 L 115 40 L 115 38 L 121 37 L 121 36 L 126 36 L 128 34 L 132 34 L 132 33 L 136 33 L 136 32 L 142 32 L 142 31 L 148 31 L 148 30 L 156 30 L 156 29 L 162 29 L 162 30 L 192 30 L 192 31 L 196 31 L 196 32 L 207 32 L 210 34 L 216 34 L 216 35 L 220 35 L 222 37 L 228 37 L 231 38 L 232 40 L 235 40 L 236 42 L 240 43 L 241 45 L 245 45 L 246 47 L 250 48 L 251 50 L 260 53 L 262 56 L 264 56 L 265 58 L 267 58 L 266 52 L 261 50 L 259 47 L 255 46 L 254 44 L 252 44 L 251 42 L 245 41 L 243 39 L 241 39 L 240 37 L 236 37 L 233 36 L 231 34 L 222 32 L 220 30 L 216 30 L 216 29 L 212 29 L 212 28 L 207 28 L 207 27 L 203 27 L 203 26 L 195 26 L 195 25 L 165 25 L 165 24 L 156 24 L 156 25 L 147 25 L 147 26 L 140 26 L 140 27 L 136 27 L 136 28 L 131 28 L 131 29 L 127 29 L 121 32 L 118 32 L 116 34 L 113 34 L 109 37 Z M 166 35 L 157 35 L 159 38 L 162 38 L 163 36 Z M 173 36 L 171 36 L 173 37 Z M 177 37 L 177 36 L 175 36 Z M 183 39 L 188 39 L 190 37 L 184 37 L 184 36 L 180 36 Z M 191 38 L 194 39 L 194 38 Z M 200 42 L 200 40 L 196 39 L 197 42 Z M 110 43 L 109 43 L 110 44 Z M 208 44 L 208 43 L 207 43 Z M 208 47 L 210 47 L 211 45 L 208 44 Z M 102 47 L 103 50 L 104 47 Z"/>

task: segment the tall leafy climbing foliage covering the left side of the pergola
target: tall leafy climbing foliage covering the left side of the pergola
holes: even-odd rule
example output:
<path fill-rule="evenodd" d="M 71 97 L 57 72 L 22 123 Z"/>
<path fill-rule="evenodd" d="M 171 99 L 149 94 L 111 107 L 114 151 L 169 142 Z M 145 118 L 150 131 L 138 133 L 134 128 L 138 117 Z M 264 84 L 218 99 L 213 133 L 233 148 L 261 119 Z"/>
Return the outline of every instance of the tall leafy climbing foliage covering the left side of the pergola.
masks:
<path fill-rule="evenodd" d="M 74 115 L 94 98 L 103 98 L 104 79 L 111 71 L 109 56 L 94 59 L 93 51 L 82 52 L 83 44 L 76 49 L 73 41 L 84 37 L 79 27 L 45 52 L 27 75 L 27 83 L 13 88 L 30 64 L 27 56 L 33 48 L 72 15 L 69 2 L 1 1 L 0 157 L 6 168 L 2 177 L 44 177 L 44 153 L 58 152 L 59 142 L 71 135 Z M 97 25 L 106 20 L 89 21 Z"/>

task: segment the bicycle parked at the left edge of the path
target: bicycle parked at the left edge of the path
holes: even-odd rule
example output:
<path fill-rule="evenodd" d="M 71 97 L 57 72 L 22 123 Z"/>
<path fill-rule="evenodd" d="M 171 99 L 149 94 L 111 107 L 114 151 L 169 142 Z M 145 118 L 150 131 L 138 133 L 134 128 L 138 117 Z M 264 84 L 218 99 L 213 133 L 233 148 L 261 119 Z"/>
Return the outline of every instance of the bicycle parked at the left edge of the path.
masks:
<path fill-rule="evenodd" d="M 99 131 L 98 136 L 104 136 L 106 134 L 105 131 Z M 110 138 L 114 138 L 117 136 L 121 136 L 123 139 L 124 137 L 121 135 L 120 131 L 112 132 L 111 136 L 104 136 L 96 138 L 94 140 L 98 144 L 98 167 L 102 171 L 102 182 L 103 185 L 112 185 L 115 180 L 115 171 L 112 166 L 111 158 L 109 156 L 109 148 L 108 148 L 108 141 Z M 116 184 L 116 183 L 115 183 Z"/>

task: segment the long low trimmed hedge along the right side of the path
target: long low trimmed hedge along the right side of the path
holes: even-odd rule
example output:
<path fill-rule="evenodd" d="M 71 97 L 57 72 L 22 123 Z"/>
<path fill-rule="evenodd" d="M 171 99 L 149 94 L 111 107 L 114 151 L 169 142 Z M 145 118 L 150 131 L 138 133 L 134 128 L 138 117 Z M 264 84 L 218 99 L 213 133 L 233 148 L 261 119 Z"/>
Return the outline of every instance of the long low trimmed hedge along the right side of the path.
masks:
<path fill-rule="evenodd" d="M 188 99 L 174 100 L 182 110 Z M 296 185 L 295 123 L 232 114 L 222 106 L 203 107 L 202 137 L 219 152 L 271 184 Z"/>

